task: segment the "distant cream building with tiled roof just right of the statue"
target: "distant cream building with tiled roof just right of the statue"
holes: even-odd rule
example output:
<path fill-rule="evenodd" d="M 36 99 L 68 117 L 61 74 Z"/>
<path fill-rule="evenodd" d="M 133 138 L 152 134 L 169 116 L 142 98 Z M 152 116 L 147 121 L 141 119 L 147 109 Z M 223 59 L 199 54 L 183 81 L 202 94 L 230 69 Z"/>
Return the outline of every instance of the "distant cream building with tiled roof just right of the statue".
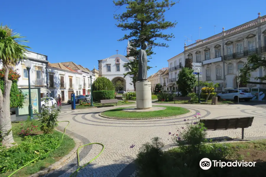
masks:
<path fill-rule="evenodd" d="M 151 82 L 152 92 L 155 90 L 156 84 L 160 83 L 163 86 L 163 90 L 167 90 L 168 85 L 168 68 L 162 68 L 157 73 L 147 78 Z"/>

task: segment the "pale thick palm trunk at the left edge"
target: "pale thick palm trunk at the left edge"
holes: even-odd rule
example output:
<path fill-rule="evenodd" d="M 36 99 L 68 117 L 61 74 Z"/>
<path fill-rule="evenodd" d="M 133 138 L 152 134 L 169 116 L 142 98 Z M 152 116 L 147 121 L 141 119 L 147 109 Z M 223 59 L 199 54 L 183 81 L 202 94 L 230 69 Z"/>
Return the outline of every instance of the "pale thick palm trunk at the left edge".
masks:
<path fill-rule="evenodd" d="M 12 81 L 8 80 L 8 74 L 9 68 L 5 66 L 4 95 L 0 89 L 0 130 L 2 132 L 1 136 L 3 137 L 3 145 L 8 145 L 14 142 L 12 131 L 9 132 L 12 128 L 10 118 L 10 89 Z M 7 132 L 9 132 L 8 135 Z"/>

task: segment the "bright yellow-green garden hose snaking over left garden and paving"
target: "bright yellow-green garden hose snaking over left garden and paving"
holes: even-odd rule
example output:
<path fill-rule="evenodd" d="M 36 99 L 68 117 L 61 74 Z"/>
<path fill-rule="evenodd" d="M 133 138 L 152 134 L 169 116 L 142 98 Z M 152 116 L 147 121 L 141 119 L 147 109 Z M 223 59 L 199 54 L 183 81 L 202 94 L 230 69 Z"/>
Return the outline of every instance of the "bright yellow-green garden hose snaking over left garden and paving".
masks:
<path fill-rule="evenodd" d="M 69 121 L 60 121 L 60 122 L 68 122 L 67 126 L 69 125 Z M 58 122 L 58 123 L 59 123 L 59 122 Z M 64 133 L 63 133 L 63 135 L 62 135 L 62 137 L 61 137 L 61 141 L 60 141 L 59 145 L 58 145 L 56 148 L 58 148 L 58 147 L 61 145 L 61 142 L 63 141 L 63 137 L 64 137 L 64 135 L 65 135 L 65 132 L 66 132 L 67 126 L 64 128 Z M 99 142 L 93 142 L 93 143 L 89 143 L 89 144 L 86 144 L 86 145 L 82 145 L 82 146 L 80 146 L 80 147 L 77 149 L 78 166 L 80 166 L 80 156 L 79 156 L 79 150 L 80 150 L 80 148 L 82 148 L 82 147 L 84 147 L 84 146 L 87 146 L 87 145 L 92 145 L 92 144 L 99 144 L 99 145 L 102 145 L 103 148 L 102 148 L 101 152 L 100 152 L 95 158 L 93 158 L 92 160 L 90 160 L 88 163 L 86 163 L 85 165 L 83 165 L 83 166 L 77 168 L 77 170 L 74 171 L 74 173 L 72 173 L 69 177 L 71 177 L 71 176 L 73 176 L 73 175 L 74 175 L 74 176 L 77 176 L 77 173 L 78 173 L 78 171 L 79 171 L 81 168 L 83 168 L 83 167 L 85 167 L 86 165 L 90 164 L 93 160 L 95 160 L 95 159 L 96 159 L 96 158 L 97 158 L 97 157 L 103 152 L 104 145 L 103 145 L 102 143 L 99 143 Z M 55 148 L 55 149 L 56 149 L 56 148 Z M 53 149 L 53 150 L 55 150 L 55 149 Z M 47 153 L 51 153 L 53 150 L 51 150 L 51 151 L 49 151 L 49 152 L 47 152 Z M 47 153 L 46 153 L 46 154 L 47 154 Z M 17 169 L 17 170 L 14 171 L 13 173 L 11 173 L 8 177 L 14 175 L 17 171 L 19 171 L 19 170 L 21 170 L 22 168 L 26 167 L 27 165 L 29 165 L 29 164 L 32 163 L 33 161 L 38 160 L 38 158 L 40 158 L 40 155 L 39 155 L 39 157 L 37 157 L 37 158 L 31 160 L 31 161 L 28 162 L 26 165 L 20 167 L 19 169 Z"/>

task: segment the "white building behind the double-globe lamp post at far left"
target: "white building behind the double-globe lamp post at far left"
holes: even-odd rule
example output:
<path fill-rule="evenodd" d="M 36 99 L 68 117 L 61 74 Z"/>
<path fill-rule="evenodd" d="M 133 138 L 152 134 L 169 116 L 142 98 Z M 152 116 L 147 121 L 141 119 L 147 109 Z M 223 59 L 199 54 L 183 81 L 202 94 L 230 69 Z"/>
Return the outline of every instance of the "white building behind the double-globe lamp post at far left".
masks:
<path fill-rule="evenodd" d="M 45 97 L 50 92 L 47 89 L 48 57 L 31 51 L 27 51 L 25 55 L 27 56 L 27 59 L 32 62 L 30 69 L 30 86 L 31 88 L 40 88 L 41 97 Z M 17 73 L 21 76 L 17 83 L 19 88 L 28 88 L 29 86 L 28 73 L 24 62 L 25 60 L 17 66 L 9 66 L 12 70 L 17 70 Z M 0 64 L 0 67 L 2 68 L 2 64 Z"/>

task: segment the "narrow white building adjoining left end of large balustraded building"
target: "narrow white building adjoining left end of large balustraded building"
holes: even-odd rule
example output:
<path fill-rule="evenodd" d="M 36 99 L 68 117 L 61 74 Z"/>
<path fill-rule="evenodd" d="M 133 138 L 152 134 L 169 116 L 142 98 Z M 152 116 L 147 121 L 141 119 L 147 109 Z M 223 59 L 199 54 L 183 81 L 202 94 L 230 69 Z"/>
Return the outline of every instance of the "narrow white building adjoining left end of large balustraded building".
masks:
<path fill-rule="evenodd" d="M 185 55 L 184 53 L 179 53 L 178 55 L 170 58 L 168 61 L 169 67 L 169 78 L 168 78 L 168 90 L 178 90 L 176 81 L 178 79 L 178 73 L 185 65 Z"/>

